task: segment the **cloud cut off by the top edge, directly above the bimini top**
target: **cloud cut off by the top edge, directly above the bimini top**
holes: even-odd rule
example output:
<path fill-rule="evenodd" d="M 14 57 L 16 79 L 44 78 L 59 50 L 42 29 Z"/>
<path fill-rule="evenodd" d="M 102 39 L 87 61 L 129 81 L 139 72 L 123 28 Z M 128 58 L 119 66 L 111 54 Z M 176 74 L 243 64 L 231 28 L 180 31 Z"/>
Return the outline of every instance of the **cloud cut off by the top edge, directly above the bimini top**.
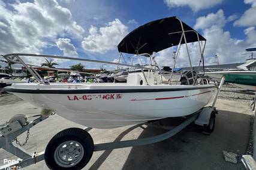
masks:
<path fill-rule="evenodd" d="M 164 2 L 170 8 L 188 6 L 192 11 L 197 12 L 221 4 L 222 0 L 164 0 Z"/>

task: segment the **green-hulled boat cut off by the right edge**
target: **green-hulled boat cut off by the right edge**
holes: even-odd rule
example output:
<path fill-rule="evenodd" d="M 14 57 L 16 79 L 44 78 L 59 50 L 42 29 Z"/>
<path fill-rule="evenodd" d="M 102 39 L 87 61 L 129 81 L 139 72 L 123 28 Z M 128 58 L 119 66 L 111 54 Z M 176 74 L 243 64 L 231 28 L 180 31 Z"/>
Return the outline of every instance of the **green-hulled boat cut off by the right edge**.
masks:
<path fill-rule="evenodd" d="M 248 48 L 246 51 L 256 51 L 256 48 Z M 205 72 L 205 75 L 214 79 L 217 82 L 221 81 L 221 78 L 225 76 L 225 82 L 233 84 L 239 88 L 243 88 L 249 91 L 255 91 L 256 86 L 256 58 L 252 57 L 237 66 L 236 70 L 222 70 L 219 72 Z"/>

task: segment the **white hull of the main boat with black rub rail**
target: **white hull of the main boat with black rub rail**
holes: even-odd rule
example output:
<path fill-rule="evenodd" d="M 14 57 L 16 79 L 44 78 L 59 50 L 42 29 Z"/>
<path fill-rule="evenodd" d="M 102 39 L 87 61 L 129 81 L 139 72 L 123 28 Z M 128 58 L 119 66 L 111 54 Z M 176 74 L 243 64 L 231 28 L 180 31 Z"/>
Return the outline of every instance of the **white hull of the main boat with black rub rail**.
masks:
<path fill-rule="evenodd" d="M 67 88 L 68 85 L 63 84 L 61 86 L 62 89 L 59 90 L 58 84 L 52 84 L 51 87 L 49 85 L 17 84 L 6 89 L 35 106 L 54 110 L 65 119 L 100 129 L 132 125 L 147 120 L 191 115 L 206 106 L 216 92 L 216 87 L 213 85 L 91 84 L 80 85 L 76 88 L 72 88 L 72 86 Z M 66 89 L 63 89 L 64 86 Z M 29 88 L 44 88 L 45 91 L 28 93 L 25 88 L 28 88 L 28 91 Z M 162 88 L 167 90 L 161 91 Z M 23 92 L 19 92 L 19 89 L 22 89 Z M 59 94 L 56 89 L 60 92 Z M 83 89 L 88 92 L 83 92 Z M 99 92 L 103 91 L 102 89 L 106 89 L 106 92 Z M 117 91 L 117 89 L 120 92 L 112 92 L 113 90 Z M 140 92 L 145 91 L 145 89 L 151 92 Z M 136 92 L 127 92 L 129 90 Z M 52 91 L 52 94 L 49 91 Z"/>

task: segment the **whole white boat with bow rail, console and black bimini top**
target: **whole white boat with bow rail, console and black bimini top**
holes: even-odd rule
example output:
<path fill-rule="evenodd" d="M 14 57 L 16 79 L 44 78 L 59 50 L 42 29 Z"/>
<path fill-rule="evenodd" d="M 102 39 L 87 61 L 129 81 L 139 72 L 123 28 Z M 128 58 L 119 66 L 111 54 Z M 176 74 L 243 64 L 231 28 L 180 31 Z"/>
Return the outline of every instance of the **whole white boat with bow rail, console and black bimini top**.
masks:
<path fill-rule="evenodd" d="M 6 87 L 5 91 L 40 107 L 43 112 L 44 110 L 51 110 L 65 119 L 91 128 L 117 128 L 149 120 L 188 116 L 212 101 L 218 89 L 217 86 L 209 83 L 198 83 L 203 81 L 198 81 L 196 75 L 192 75 L 192 81 L 189 81 L 186 75 L 158 69 L 159 67 L 153 59 L 153 52 L 169 47 L 177 47 L 178 55 L 180 46 L 186 45 L 188 49 L 187 44 L 191 42 L 200 42 L 198 43 L 200 49 L 198 56 L 202 59 L 206 39 L 179 18 L 168 17 L 138 27 L 118 44 L 120 54 L 127 53 L 147 57 L 150 61 L 147 67 L 144 67 L 143 64 L 135 66 L 56 55 L 6 54 L 4 58 L 7 60 L 17 56 L 52 57 L 62 58 L 62 60 L 135 67 L 140 69 L 141 72 L 129 72 L 127 82 L 122 84 L 118 82 L 52 84 L 41 81 L 40 76 L 32 72 L 32 75 L 37 78 L 37 84 L 13 84 Z M 201 45 L 204 46 L 201 47 Z M 190 61 L 189 53 L 188 58 Z M 24 63 L 21 57 L 17 57 L 17 60 L 23 63 L 26 68 L 29 68 L 29 65 Z M 201 60 L 199 63 L 201 64 Z M 194 72 L 191 62 L 189 64 L 191 72 Z M 175 63 L 173 64 L 174 67 Z M 147 70 L 147 72 L 144 70 Z M 181 75 L 186 78 L 187 84 L 163 84 L 159 73 Z"/>

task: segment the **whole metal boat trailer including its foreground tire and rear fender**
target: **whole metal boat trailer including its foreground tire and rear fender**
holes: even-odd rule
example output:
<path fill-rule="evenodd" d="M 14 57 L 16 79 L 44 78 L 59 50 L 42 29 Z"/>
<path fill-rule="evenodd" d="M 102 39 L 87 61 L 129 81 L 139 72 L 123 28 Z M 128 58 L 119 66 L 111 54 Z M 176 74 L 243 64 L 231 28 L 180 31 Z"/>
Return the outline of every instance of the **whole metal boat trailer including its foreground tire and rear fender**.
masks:
<path fill-rule="evenodd" d="M 177 132 L 182 131 L 182 129 L 186 128 L 186 126 L 188 126 L 192 122 L 200 125 L 204 133 L 210 134 L 212 133 L 215 126 L 215 114 L 217 113 L 215 109 L 215 103 L 223 84 L 224 78 L 222 78 L 221 84 L 219 84 L 218 91 L 213 100 L 212 106 L 204 107 L 203 109 L 198 110 L 198 112 L 189 115 L 188 119 L 172 129 L 161 127 L 159 125 L 155 125 L 154 123 L 141 123 L 140 125 L 144 124 L 147 126 L 170 130 L 165 132 L 164 134 L 135 140 L 94 144 L 91 135 L 89 135 L 88 133 L 91 128 L 69 128 L 64 129 L 63 131 L 56 134 L 55 137 L 53 137 L 52 140 L 50 140 L 50 142 L 48 143 L 45 152 L 29 153 L 22 147 L 28 141 L 29 129 L 31 129 L 38 123 L 43 122 L 43 120 L 49 118 L 49 116 L 52 115 L 52 112 L 47 114 L 35 115 L 33 117 L 38 118 L 32 120 L 31 122 L 27 121 L 28 118 L 25 115 L 16 115 L 4 125 L 0 126 L 0 149 L 2 148 L 11 154 L 14 154 L 15 156 L 19 157 L 19 159 L 10 162 L 4 162 L 4 165 L 0 166 L 0 170 L 5 170 L 8 168 L 21 169 L 26 166 L 40 162 L 41 160 L 46 160 L 46 164 L 50 169 L 61 169 L 60 167 L 65 167 L 65 169 L 82 169 L 91 159 L 93 152 L 158 143 L 159 141 L 163 141 L 167 138 L 173 137 L 173 135 L 177 134 Z M 17 137 L 26 131 L 26 141 L 24 144 L 20 144 L 17 140 Z M 74 136 L 77 136 L 77 138 L 70 139 L 70 137 Z M 58 143 L 58 141 L 61 141 L 61 143 Z M 85 143 L 83 144 L 83 142 Z M 56 146 L 56 143 L 58 143 L 58 146 Z M 77 143 L 79 143 L 79 145 L 77 145 Z M 63 152 L 63 146 L 68 147 L 69 150 L 67 150 L 69 153 Z M 84 148 L 81 146 L 83 146 Z M 52 150 L 53 148 L 56 149 L 54 152 Z M 65 162 L 61 158 L 62 156 L 64 156 L 64 153 L 68 154 L 68 156 L 71 155 L 70 157 L 74 159 L 74 162 Z M 78 160 L 79 162 L 77 163 Z"/>

